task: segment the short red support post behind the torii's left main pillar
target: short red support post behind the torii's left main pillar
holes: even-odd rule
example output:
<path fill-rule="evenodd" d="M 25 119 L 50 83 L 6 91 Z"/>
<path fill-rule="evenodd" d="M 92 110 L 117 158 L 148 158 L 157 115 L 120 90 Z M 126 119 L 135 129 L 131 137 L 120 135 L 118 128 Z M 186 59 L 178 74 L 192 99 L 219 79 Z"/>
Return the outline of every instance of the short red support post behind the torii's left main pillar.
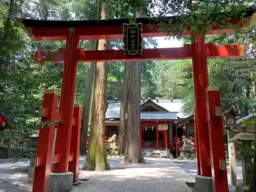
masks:
<path fill-rule="evenodd" d="M 73 118 L 75 124 L 72 126 L 70 154 L 74 154 L 73 161 L 69 162 L 69 172 L 73 172 L 73 183 L 78 182 L 78 168 L 80 157 L 80 132 L 81 132 L 81 113 L 80 105 L 75 104 Z"/>

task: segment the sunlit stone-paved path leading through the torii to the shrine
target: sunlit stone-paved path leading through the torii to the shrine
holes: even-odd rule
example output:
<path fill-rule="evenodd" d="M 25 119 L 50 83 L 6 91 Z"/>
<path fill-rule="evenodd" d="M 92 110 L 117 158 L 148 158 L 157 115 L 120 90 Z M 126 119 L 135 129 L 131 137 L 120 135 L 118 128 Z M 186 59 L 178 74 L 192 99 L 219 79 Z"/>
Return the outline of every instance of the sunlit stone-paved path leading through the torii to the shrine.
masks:
<path fill-rule="evenodd" d="M 185 182 L 195 182 L 169 159 L 146 158 L 146 164 L 122 164 L 121 160 L 109 159 L 109 171 L 81 171 L 79 179 L 90 180 L 73 192 L 191 192 Z"/>

